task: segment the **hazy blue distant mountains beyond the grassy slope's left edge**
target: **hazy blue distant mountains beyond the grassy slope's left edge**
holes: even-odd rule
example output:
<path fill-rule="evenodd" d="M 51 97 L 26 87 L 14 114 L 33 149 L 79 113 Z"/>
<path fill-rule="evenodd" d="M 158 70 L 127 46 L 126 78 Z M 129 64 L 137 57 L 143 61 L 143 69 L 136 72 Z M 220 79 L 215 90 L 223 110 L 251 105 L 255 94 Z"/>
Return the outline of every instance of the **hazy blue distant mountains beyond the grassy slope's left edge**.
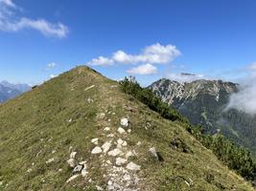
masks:
<path fill-rule="evenodd" d="M 2 81 L 0 82 L 0 103 L 19 96 L 30 89 L 31 86 L 27 84 L 12 84 L 8 81 Z"/>

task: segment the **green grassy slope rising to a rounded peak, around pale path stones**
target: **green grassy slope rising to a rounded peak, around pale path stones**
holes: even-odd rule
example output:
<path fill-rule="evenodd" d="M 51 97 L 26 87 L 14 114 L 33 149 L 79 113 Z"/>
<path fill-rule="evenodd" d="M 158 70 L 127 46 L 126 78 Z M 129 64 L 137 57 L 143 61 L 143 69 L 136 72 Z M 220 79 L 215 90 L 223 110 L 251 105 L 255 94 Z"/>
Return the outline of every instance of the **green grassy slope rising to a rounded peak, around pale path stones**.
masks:
<path fill-rule="evenodd" d="M 99 117 L 102 113 L 105 117 Z M 131 132 L 121 135 L 117 129 L 122 117 L 128 117 Z M 95 148 L 92 138 L 99 138 L 98 146 L 112 140 L 110 150 L 122 138 L 128 143 L 122 148 L 124 153 L 136 153 L 128 162 L 141 168 L 128 173 L 138 182 L 127 185 L 125 180 L 120 181 L 123 188 L 253 190 L 189 135 L 181 123 L 160 117 L 123 94 L 115 81 L 86 67 L 61 74 L 0 105 L 0 190 L 78 191 L 96 190 L 96 185 L 105 190 L 113 174 L 122 177 L 124 173 L 113 173 L 114 157 L 91 154 Z M 177 139 L 190 152 L 171 147 L 171 141 Z M 151 157 L 151 147 L 163 161 Z M 66 162 L 72 151 L 77 152 L 77 161 L 86 160 L 88 174 L 66 182 L 74 175 Z"/>

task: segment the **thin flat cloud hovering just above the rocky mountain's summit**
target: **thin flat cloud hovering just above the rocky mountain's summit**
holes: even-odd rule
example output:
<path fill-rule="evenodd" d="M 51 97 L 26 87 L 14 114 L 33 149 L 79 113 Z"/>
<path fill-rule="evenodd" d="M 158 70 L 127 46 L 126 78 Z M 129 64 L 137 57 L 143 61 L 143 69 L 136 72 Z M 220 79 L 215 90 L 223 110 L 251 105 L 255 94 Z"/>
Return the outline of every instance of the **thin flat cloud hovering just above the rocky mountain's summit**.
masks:
<path fill-rule="evenodd" d="M 186 74 L 186 73 L 180 73 L 180 74 L 171 73 L 171 74 L 167 74 L 167 77 L 169 79 L 172 79 L 178 82 L 192 82 L 197 79 L 205 78 L 203 74 Z"/>

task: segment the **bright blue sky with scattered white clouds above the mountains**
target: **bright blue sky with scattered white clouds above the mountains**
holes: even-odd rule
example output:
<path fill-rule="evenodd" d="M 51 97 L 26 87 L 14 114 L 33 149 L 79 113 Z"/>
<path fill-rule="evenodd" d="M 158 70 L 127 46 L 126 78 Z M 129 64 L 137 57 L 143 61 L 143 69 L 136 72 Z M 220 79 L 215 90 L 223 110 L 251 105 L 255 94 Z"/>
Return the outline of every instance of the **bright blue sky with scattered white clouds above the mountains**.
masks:
<path fill-rule="evenodd" d="M 256 61 L 255 10 L 254 0 L 0 0 L 0 80 L 35 84 L 81 64 L 143 85 L 180 73 L 237 80 Z"/>

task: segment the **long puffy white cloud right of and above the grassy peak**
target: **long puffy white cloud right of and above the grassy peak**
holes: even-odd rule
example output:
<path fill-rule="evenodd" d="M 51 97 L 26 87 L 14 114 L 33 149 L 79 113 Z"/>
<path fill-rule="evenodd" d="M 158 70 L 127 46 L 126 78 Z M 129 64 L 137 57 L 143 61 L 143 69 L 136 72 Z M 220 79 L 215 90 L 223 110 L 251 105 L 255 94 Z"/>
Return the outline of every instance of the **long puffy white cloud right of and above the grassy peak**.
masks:
<path fill-rule="evenodd" d="M 99 56 L 87 62 L 88 65 L 113 65 L 113 64 L 166 64 L 172 62 L 181 53 L 174 45 L 160 45 L 159 43 L 148 46 L 139 54 L 129 54 L 117 51 L 110 57 Z"/>

